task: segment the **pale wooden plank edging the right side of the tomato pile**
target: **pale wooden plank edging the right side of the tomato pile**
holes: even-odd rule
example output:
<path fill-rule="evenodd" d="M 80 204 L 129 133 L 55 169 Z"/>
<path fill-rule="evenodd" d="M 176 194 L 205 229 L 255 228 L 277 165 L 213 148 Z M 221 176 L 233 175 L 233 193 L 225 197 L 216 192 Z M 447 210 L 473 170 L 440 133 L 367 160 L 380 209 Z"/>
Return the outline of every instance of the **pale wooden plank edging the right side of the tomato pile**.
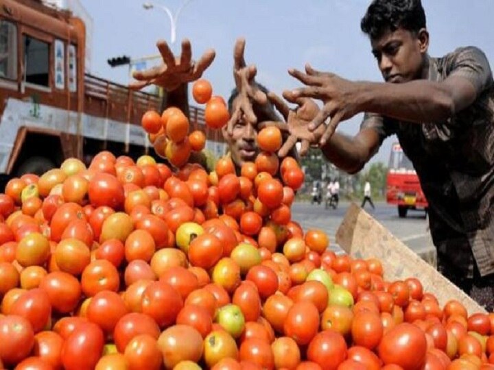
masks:
<path fill-rule="evenodd" d="M 383 265 L 386 280 L 419 278 L 424 291 L 434 293 L 441 306 L 450 299 L 457 299 L 469 314 L 486 312 L 356 204 L 351 204 L 346 212 L 336 232 L 336 243 L 355 258 L 378 258 Z"/>

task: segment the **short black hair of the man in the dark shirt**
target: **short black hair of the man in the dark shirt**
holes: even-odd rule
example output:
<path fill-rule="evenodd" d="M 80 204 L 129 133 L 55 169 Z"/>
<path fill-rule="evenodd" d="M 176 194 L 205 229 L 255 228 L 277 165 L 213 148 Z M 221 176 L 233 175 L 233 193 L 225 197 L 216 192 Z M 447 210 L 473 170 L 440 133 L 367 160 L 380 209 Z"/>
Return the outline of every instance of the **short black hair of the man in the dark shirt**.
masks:
<path fill-rule="evenodd" d="M 425 28 L 421 0 L 374 0 L 360 22 L 360 28 L 373 39 L 399 28 L 417 34 Z"/>

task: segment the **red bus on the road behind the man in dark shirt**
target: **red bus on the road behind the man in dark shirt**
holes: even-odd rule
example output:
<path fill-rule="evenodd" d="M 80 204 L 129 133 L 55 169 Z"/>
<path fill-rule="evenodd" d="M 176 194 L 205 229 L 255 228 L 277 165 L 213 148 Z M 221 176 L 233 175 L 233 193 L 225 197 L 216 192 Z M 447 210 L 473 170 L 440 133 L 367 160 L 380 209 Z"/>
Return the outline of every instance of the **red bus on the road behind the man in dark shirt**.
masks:
<path fill-rule="evenodd" d="M 399 143 L 391 147 L 386 177 L 386 201 L 398 206 L 399 217 L 406 217 L 408 210 L 427 212 L 429 206 L 413 164 L 405 156 Z"/>

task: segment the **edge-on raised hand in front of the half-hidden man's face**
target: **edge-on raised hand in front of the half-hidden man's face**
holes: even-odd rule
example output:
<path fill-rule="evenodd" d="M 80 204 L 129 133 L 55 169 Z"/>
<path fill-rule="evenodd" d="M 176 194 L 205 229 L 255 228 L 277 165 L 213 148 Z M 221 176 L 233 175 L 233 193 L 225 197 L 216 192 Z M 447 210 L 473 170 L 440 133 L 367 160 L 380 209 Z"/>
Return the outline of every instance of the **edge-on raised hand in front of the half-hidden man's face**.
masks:
<path fill-rule="evenodd" d="M 244 51 L 245 39 L 239 38 L 235 42 L 235 49 L 233 50 L 233 78 L 235 79 L 235 86 L 238 91 L 239 104 L 233 110 L 231 118 L 228 121 L 228 135 L 233 134 L 233 126 L 242 116 L 249 123 L 257 123 L 257 116 L 252 109 L 252 101 L 260 106 L 266 106 L 268 102 L 266 94 L 254 84 L 257 69 L 254 65 L 246 65 Z"/>

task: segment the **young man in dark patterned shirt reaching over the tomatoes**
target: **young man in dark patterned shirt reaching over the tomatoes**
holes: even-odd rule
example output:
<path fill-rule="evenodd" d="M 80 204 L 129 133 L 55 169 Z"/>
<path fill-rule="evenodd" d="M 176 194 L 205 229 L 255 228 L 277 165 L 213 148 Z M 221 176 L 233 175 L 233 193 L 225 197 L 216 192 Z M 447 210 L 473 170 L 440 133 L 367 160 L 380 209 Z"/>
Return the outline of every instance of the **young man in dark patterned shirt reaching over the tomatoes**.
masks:
<path fill-rule="evenodd" d="M 349 173 L 360 171 L 384 138 L 397 134 L 430 204 L 438 269 L 492 311 L 494 82 L 489 62 L 475 47 L 431 58 L 420 0 L 374 0 L 361 27 L 386 83 L 351 82 L 310 66 L 306 73 L 289 71 L 307 86 L 285 98 L 324 103 L 311 123 L 289 123 L 290 132 L 318 144 L 329 161 Z M 360 112 L 366 115 L 355 136 L 334 132 L 340 121 Z M 329 124 L 322 125 L 327 118 Z"/>

